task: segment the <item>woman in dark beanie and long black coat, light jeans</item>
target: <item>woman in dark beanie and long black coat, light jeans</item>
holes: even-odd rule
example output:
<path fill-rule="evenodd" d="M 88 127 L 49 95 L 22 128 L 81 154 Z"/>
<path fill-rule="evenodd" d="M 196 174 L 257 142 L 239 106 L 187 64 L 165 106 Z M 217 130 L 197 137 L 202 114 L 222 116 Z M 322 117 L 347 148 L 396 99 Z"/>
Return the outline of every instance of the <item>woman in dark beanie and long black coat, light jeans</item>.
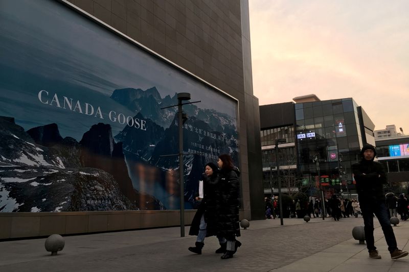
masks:
<path fill-rule="evenodd" d="M 205 166 L 205 172 L 202 174 L 203 181 L 203 199 L 201 200 L 196 214 L 193 217 L 190 226 L 189 235 L 197 235 L 195 246 L 191 246 L 189 251 L 196 254 L 201 254 L 201 250 L 205 245 L 205 237 L 217 234 L 218 222 L 218 200 L 219 195 L 219 179 L 218 169 L 216 164 L 209 162 Z M 220 249 L 216 253 L 224 253 L 226 248 L 226 239 L 218 237 Z"/>

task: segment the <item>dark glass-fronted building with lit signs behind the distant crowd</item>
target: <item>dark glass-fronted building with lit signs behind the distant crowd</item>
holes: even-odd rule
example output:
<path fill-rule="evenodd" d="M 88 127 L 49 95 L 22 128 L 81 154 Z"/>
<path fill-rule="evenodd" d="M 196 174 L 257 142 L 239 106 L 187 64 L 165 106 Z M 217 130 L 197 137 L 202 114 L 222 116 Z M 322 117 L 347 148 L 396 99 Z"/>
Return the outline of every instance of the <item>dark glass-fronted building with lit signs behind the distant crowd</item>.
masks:
<path fill-rule="evenodd" d="M 310 98 L 309 96 L 308 99 Z M 323 186 L 325 197 L 333 193 L 345 197 L 353 194 L 351 165 L 360 160 L 360 149 L 363 144 L 375 144 L 373 122 L 352 98 L 327 101 L 314 98 L 309 102 L 294 99 L 294 101 L 297 103 L 260 106 L 265 193 L 269 188 L 266 187 L 269 185 L 267 180 L 269 150 L 273 149 L 273 146 L 267 144 L 274 142 L 274 139 L 268 142 L 269 138 L 266 136 L 269 131 L 275 131 L 276 128 L 281 130 L 283 127 L 290 127 L 288 131 L 293 135 L 284 137 L 290 141 L 289 153 L 292 156 L 279 154 L 281 158 L 279 164 L 283 165 L 283 169 L 280 168 L 281 175 L 285 177 L 285 168 L 293 169 L 289 174 L 289 180 L 294 185 L 289 186 L 288 190 L 296 187 L 309 195 L 318 195 L 317 190 Z M 281 121 L 280 115 L 277 119 L 272 115 L 277 111 L 283 112 L 284 108 L 286 111 L 282 115 L 288 116 L 287 120 Z M 276 136 L 278 135 L 274 134 L 272 137 Z M 282 148 L 289 148 L 279 146 L 280 151 Z M 272 175 L 274 176 L 274 172 Z"/>

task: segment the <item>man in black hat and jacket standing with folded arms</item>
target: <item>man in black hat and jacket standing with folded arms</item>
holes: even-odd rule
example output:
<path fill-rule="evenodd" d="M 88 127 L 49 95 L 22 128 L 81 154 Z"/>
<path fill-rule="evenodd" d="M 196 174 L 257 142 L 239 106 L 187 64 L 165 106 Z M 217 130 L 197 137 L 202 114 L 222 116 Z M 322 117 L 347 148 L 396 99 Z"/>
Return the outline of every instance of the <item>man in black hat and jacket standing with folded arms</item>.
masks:
<path fill-rule="evenodd" d="M 365 144 L 361 150 L 362 160 L 352 165 L 363 225 L 365 226 L 365 240 L 367 240 L 369 257 L 380 259 L 374 240 L 373 214 L 375 214 L 382 227 L 391 258 L 395 260 L 407 256 L 408 253 L 397 247 L 383 194 L 383 184 L 387 183 L 387 177 L 382 165 L 379 162 L 374 162 L 375 156 L 375 147 L 371 144 Z"/>

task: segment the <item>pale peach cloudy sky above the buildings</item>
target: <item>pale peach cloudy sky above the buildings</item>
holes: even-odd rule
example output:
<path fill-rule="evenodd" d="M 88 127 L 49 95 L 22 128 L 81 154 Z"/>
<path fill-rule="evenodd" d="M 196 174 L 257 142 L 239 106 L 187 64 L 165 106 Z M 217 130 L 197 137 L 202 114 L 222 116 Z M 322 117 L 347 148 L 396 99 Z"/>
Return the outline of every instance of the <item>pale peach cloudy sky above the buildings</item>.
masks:
<path fill-rule="evenodd" d="M 260 105 L 352 97 L 409 135 L 409 1 L 249 0 Z"/>

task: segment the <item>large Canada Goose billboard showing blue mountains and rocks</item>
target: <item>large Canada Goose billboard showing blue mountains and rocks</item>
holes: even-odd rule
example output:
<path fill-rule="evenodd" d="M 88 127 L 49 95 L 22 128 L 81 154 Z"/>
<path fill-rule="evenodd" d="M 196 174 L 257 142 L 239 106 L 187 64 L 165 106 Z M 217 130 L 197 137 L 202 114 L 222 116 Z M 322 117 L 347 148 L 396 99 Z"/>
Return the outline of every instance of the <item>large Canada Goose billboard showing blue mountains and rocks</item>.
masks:
<path fill-rule="evenodd" d="M 0 9 L 0 211 L 192 208 L 206 162 L 238 163 L 237 100 L 51 0 Z M 185 105 L 180 196 L 177 93 Z"/>

